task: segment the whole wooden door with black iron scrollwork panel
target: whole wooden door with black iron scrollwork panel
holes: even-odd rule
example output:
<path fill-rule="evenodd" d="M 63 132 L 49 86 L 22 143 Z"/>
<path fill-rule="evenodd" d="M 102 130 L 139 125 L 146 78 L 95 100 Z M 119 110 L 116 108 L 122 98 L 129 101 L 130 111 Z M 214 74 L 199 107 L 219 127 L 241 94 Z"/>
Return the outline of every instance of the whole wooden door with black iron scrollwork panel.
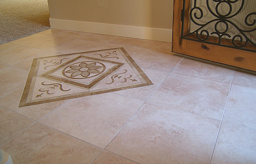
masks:
<path fill-rule="evenodd" d="M 174 0 L 172 52 L 256 71 L 256 1 Z"/>

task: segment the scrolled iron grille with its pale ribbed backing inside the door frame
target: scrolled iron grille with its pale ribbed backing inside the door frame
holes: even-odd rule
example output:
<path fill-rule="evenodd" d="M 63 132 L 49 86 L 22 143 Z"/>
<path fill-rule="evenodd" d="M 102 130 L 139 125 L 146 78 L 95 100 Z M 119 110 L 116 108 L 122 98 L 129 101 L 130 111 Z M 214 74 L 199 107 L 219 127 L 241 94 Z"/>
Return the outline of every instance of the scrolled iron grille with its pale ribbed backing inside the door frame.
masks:
<path fill-rule="evenodd" d="M 249 0 L 189 1 L 191 9 L 186 11 L 183 0 L 182 39 L 256 52 L 255 0 L 251 1 L 253 12 L 245 7 Z M 189 31 L 184 31 L 185 15 L 189 15 Z"/>

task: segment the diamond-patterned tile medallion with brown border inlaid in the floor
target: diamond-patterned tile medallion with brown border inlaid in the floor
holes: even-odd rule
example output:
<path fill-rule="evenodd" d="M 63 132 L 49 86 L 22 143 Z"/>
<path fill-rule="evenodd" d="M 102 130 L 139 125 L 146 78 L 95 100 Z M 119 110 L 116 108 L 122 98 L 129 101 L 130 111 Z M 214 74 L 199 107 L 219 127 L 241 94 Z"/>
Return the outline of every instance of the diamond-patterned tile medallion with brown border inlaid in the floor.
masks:
<path fill-rule="evenodd" d="M 147 85 L 123 47 L 35 58 L 19 107 Z"/>

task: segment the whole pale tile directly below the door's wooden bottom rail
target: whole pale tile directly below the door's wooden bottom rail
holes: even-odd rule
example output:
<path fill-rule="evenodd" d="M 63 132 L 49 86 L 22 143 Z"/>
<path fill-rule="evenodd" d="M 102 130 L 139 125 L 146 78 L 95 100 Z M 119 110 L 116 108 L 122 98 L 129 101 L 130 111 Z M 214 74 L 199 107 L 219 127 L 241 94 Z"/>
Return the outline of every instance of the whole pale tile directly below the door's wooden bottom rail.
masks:
<path fill-rule="evenodd" d="M 201 59 L 184 58 L 173 73 L 231 84 L 235 68 Z"/>

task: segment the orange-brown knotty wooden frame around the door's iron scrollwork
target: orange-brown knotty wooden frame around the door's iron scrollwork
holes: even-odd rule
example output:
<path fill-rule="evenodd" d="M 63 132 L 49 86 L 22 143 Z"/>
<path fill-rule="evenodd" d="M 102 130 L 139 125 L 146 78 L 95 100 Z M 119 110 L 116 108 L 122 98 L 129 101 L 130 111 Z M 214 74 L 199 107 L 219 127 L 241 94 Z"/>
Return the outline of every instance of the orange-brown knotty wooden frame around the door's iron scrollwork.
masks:
<path fill-rule="evenodd" d="M 244 50 L 238 50 L 230 47 L 195 42 L 181 38 L 182 21 L 181 10 L 183 1 L 173 0 L 173 34 L 172 34 L 172 52 L 186 54 L 205 60 L 224 63 L 239 68 L 256 71 L 256 53 Z M 188 30 L 190 4 L 185 5 L 185 31 Z M 187 22 L 187 23 L 186 23 Z"/>

